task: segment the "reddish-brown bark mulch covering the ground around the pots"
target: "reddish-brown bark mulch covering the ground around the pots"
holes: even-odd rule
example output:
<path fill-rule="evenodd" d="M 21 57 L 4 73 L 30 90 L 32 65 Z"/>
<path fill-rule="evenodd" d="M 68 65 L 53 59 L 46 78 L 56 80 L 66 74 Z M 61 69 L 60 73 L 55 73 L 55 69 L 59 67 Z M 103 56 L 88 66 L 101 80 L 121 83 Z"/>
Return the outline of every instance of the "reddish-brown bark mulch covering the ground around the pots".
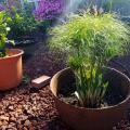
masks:
<path fill-rule="evenodd" d="M 41 75 L 52 77 L 65 67 L 64 57 L 65 54 L 49 51 L 41 44 L 34 56 L 24 62 L 24 75 L 30 80 Z M 49 86 L 39 91 L 31 88 L 28 80 L 13 90 L 0 92 L 0 130 L 72 130 L 61 120 Z M 114 128 L 117 129 L 130 130 L 128 119 L 121 120 Z"/>

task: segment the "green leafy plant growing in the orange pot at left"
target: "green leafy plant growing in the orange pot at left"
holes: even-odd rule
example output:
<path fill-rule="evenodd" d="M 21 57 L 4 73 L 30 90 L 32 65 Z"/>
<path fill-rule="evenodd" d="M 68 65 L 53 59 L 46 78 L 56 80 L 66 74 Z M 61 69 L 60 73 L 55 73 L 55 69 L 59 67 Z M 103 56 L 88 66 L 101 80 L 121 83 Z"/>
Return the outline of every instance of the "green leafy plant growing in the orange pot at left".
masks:
<path fill-rule="evenodd" d="M 6 47 L 5 42 L 9 41 L 6 38 L 6 35 L 9 32 L 10 28 L 6 26 L 6 23 L 4 22 L 4 12 L 0 12 L 0 57 L 3 57 L 6 55 Z M 9 41 L 10 43 L 13 43 L 13 41 Z"/>

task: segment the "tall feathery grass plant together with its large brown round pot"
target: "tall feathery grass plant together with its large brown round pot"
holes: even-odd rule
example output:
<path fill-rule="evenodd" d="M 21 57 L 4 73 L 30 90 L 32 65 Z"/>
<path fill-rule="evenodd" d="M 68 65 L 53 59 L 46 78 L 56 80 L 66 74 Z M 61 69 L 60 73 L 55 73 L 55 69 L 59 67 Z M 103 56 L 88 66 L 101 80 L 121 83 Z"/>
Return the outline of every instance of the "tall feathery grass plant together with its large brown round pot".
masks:
<path fill-rule="evenodd" d="M 67 53 L 69 68 L 53 76 L 50 87 L 61 118 L 76 130 L 112 130 L 126 115 L 129 78 L 107 67 L 123 54 L 129 30 L 112 13 L 90 10 L 52 29 L 51 48 Z"/>

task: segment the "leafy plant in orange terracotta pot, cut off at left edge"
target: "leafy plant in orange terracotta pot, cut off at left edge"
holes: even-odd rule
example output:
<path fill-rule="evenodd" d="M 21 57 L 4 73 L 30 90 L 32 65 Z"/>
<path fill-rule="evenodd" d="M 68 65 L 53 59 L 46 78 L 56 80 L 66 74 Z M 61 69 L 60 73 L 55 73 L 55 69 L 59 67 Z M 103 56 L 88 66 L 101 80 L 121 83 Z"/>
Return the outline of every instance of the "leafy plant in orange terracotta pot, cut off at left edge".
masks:
<path fill-rule="evenodd" d="M 4 12 L 0 12 L 0 90 L 9 90 L 22 80 L 22 54 L 18 49 L 8 49 L 5 42 L 10 30 L 4 22 Z M 12 41 L 9 41 L 12 42 Z M 13 42 L 12 42 L 13 43 Z"/>

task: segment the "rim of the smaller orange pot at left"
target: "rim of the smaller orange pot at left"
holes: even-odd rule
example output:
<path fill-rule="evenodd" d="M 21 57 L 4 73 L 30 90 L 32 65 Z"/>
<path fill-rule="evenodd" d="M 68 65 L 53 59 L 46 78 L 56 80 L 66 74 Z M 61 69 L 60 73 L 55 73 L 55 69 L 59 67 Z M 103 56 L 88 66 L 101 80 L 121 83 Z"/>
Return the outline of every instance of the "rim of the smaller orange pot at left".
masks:
<path fill-rule="evenodd" d="M 12 58 L 12 57 L 17 57 L 20 55 L 24 54 L 24 51 L 22 49 L 9 49 L 9 51 L 17 51 L 17 54 L 13 54 L 13 55 L 9 55 L 9 56 L 4 56 L 4 57 L 0 57 L 0 60 L 6 60 L 6 58 Z"/>

